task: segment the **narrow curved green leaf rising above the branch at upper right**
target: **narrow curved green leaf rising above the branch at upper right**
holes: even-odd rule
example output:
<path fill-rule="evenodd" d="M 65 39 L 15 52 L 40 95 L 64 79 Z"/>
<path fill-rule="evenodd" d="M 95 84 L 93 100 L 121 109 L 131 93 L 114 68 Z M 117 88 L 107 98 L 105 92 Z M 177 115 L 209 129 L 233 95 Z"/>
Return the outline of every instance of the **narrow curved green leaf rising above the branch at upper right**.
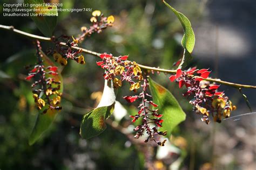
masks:
<path fill-rule="evenodd" d="M 191 53 L 193 51 L 194 44 L 196 41 L 190 20 L 188 20 L 188 18 L 184 16 L 183 13 L 178 12 L 176 9 L 174 9 L 171 5 L 169 5 L 165 1 L 163 2 L 168 8 L 172 10 L 172 12 L 174 12 L 174 14 L 179 19 L 181 25 L 183 26 L 184 36 L 181 40 L 181 45 L 184 47 L 184 55 L 179 65 L 179 68 L 185 67 L 185 65 L 187 65 L 187 63 L 192 59 Z"/>

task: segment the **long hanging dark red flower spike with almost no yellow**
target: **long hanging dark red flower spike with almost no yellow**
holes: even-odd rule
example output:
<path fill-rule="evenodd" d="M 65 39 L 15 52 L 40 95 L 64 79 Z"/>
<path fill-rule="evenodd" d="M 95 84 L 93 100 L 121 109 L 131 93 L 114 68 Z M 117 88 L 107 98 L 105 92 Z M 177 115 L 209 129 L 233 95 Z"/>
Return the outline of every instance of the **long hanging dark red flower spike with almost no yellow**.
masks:
<path fill-rule="evenodd" d="M 139 105 L 139 111 L 137 115 L 130 116 L 132 118 L 132 122 L 137 121 L 138 119 L 142 120 L 142 124 L 136 126 L 133 130 L 136 131 L 136 135 L 134 138 L 139 138 L 143 136 L 143 134 L 146 132 L 147 138 L 144 140 L 145 143 L 149 140 L 155 141 L 158 145 L 164 146 L 164 143 L 166 140 L 160 142 L 156 140 L 157 135 L 166 135 L 166 131 L 158 131 L 157 127 L 161 127 L 161 123 L 164 122 L 163 119 L 160 119 L 163 115 L 158 114 L 158 109 L 150 109 L 150 105 L 152 105 L 153 108 L 158 107 L 157 104 L 153 103 L 151 100 L 147 100 L 147 97 L 151 98 L 151 95 L 146 93 L 147 87 L 149 84 L 147 83 L 146 79 L 144 79 L 144 83 L 142 85 L 143 91 L 139 95 L 135 96 L 125 96 L 124 99 L 129 102 L 135 102 L 138 98 L 142 100 L 142 103 Z M 153 124 L 153 125 L 150 125 Z"/>

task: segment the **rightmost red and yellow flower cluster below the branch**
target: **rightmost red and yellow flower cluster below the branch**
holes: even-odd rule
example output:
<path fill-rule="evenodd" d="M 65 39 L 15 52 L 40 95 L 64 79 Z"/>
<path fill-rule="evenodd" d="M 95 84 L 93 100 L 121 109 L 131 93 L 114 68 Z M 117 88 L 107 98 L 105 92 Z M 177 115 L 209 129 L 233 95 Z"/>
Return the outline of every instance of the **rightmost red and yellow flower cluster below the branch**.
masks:
<path fill-rule="evenodd" d="M 214 122 L 220 123 L 222 117 L 229 117 L 231 111 L 236 109 L 225 96 L 224 91 L 218 91 L 219 85 L 204 80 L 210 73 L 208 69 L 198 70 L 193 67 L 186 71 L 177 69 L 176 75 L 169 77 L 171 82 L 176 81 L 179 84 L 179 88 L 183 86 L 187 88 L 183 96 L 193 96 L 190 104 L 197 114 L 203 115 L 201 120 L 206 124 L 210 123 L 209 115 L 213 116 Z"/>

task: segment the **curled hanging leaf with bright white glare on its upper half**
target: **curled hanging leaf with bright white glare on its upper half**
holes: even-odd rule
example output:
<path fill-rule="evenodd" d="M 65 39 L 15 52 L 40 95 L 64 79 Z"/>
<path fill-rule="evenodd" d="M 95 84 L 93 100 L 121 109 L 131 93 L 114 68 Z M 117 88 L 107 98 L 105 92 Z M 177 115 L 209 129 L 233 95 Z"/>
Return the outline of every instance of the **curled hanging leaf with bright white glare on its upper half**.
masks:
<path fill-rule="evenodd" d="M 97 108 L 87 112 L 80 126 L 80 135 L 84 139 L 98 136 L 106 129 L 105 120 L 109 118 L 114 110 L 116 91 L 113 88 L 113 81 L 105 80 L 102 99 Z"/>

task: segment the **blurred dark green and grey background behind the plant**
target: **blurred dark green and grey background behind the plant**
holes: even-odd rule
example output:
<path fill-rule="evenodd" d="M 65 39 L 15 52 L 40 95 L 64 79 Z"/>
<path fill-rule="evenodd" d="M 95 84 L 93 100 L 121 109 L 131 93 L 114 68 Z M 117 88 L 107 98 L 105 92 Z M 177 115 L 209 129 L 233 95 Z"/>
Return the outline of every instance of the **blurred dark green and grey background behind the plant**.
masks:
<path fill-rule="evenodd" d="M 182 27 L 161 1 L 59 1 L 64 8 L 92 8 L 106 16 L 114 15 L 113 27 L 86 38 L 80 47 L 114 55 L 129 54 L 129 59 L 148 66 L 171 69 L 183 54 Z M 173 0 L 167 1 L 184 13 L 196 34 L 192 66 L 210 68 L 212 77 L 243 84 L 256 84 L 255 11 L 253 0 Z M 2 0 L 3 3 L 23 1 Z M 80 27 L 90 26 L 91 12 L 61 12 L 55 36 L 77 36 Z M 41 35 L 31 18 L 3 17 L 0 24 Z M 79 136 L 83 114 L 100 99 L 104 87 L 103 70 L 97 59 L 85 54 L 86 65 L 70 61 L 63 69 L 63 110 L 44 137 L 33 146 L 28 136 L 37 110 L 30 82 L 24 81 L 26 65 L 35 63 L 32 40 L 0 30 L 0 169 L 256 169 L 256 116 L 245 115 L 206 125 L 194 114 L 183 90 L 170 83 L 167 75 L 153 79 L 172 91 L 187 114 L 186 121 L 173 132 L 165 147 L 133 144 L 122 130 L 110 125 L 98 137 L 83 140 Z M 42 42 L 44 49 L 51 44 Z M 127 84 L 126 84 L 127 85 Z M 120 102 L 110 124 L 133 129 L 127 116 L 136 111 L 122 96 L 131 95 L 123 87 Z M 250 112 L 237 89 L 221 86 L 237 105 L 232 116 Z M 256 91 L 243 89 L 256 109 Z M 123 115 L 123 116 L 120 116 Z M 119 126 L 118 126 L 119 127 Z M 119 128 L 120 128 L 119 127 Z"/>

